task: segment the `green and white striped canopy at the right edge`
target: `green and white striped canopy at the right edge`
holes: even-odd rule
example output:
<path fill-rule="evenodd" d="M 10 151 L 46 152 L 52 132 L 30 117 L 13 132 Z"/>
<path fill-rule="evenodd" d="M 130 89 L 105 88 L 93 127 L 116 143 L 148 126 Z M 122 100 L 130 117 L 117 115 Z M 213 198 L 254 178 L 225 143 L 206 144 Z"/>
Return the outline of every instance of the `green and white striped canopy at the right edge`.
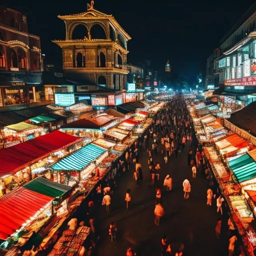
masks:
<path fill-rule="evenodd" d="M 244 154 L 228 162 L 239 182 L 256 177 L 256 162 L 248 154 Z"/>

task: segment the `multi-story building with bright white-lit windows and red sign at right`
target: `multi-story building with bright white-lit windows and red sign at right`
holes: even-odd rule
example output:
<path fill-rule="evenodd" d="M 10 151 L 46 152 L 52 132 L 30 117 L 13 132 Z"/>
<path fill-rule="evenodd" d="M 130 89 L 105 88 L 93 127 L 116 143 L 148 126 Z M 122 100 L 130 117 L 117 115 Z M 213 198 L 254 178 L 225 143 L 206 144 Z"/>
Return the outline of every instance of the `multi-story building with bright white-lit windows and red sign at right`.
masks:
<path fill-rule="evenodd" d="M 224 91 L 220 100 L 230 111 L 256 100 L 255 9 L 256 2 L 221 39 L 219 56 L 214 56 L 214 84 Z M 207 75 L 208 69 L 212 76 L 212 58 Z"/>

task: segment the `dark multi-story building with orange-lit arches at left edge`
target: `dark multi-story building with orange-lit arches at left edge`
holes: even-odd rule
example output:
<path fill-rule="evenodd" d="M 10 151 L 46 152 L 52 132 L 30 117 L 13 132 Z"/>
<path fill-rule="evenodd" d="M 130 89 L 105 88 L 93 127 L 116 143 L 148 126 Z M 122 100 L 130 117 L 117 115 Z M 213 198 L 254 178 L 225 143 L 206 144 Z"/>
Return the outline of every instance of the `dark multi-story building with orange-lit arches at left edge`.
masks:
<path fill-rule="evenodd" d="M 40 38 L 28 33 L 26 14 L 0 5 L 0 106 L 40 101 Z"/>

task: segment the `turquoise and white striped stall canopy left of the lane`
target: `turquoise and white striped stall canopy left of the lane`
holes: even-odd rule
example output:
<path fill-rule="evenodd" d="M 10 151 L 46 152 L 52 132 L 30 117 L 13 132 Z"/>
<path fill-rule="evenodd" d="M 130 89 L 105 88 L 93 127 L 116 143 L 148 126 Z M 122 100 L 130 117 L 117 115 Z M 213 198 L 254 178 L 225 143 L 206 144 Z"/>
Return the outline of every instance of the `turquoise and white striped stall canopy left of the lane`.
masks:
<path fill-rule="evenodd" d="M 50 168 L 52 170 L 82 170 L 105 151 L 106 149 L 99 146 L 88 144 L 53 164 Z"/>

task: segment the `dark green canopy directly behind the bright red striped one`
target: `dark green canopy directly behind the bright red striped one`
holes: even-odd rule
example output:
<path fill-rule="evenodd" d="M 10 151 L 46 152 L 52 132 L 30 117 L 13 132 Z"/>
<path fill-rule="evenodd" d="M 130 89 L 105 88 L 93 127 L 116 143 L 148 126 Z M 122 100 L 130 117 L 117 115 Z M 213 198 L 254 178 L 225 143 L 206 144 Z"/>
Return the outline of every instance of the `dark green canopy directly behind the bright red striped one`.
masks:
<path fill-rule="evenodd" d="M 72 188 L 71 186 L 52 182 L 42 177 L 37 177 L 29 181 L 28 183 L 24 184 L 23 187 L 51 197 L 60 197 Z"/>

